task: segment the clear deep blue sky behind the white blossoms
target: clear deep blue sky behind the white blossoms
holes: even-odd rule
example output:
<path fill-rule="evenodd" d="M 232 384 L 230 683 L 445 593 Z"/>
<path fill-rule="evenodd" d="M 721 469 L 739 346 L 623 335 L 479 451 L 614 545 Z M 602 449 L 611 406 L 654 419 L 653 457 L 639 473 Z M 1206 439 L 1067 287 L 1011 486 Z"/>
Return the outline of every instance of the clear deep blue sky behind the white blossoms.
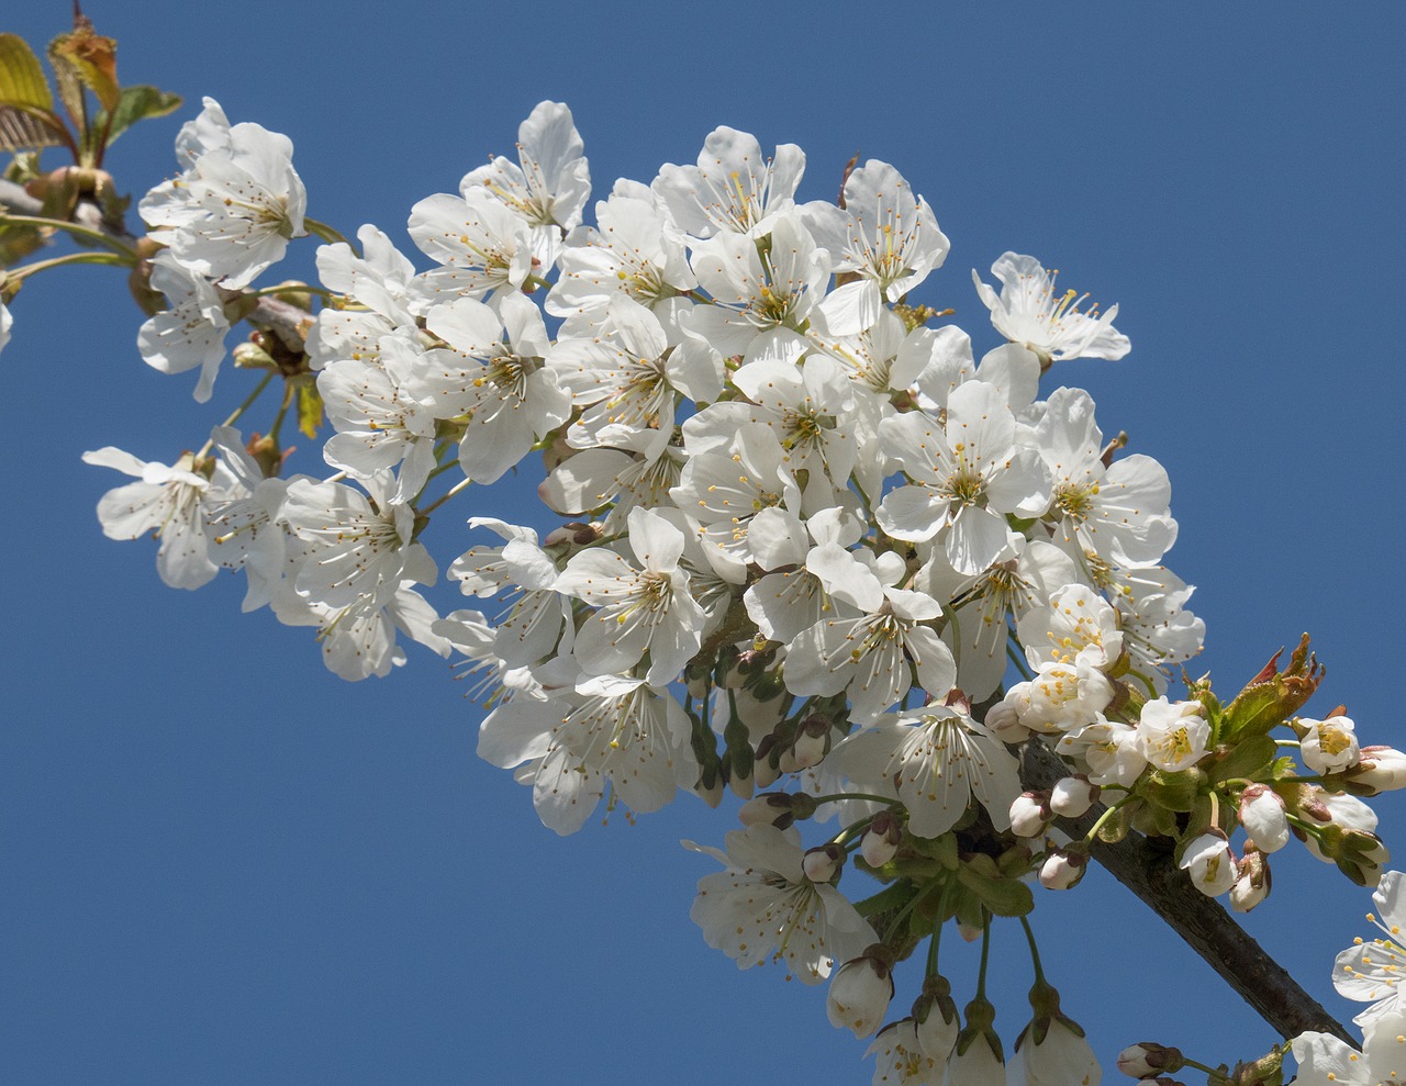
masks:
<path fill-rule="evenodd" d="M 1197 672 L 1233 690 L 1308 629 L 1329 669 L 1310 708 L 1346 702 L 1364 742 L 1406 745 L 1400 7 L 89 14 L 125 80 L 186 96 L 180 118 L 209 94 L 287 132 L 309 214 L 349 235 L 375 222 L 405 242 L 411 205 L 508 152 L 543 98 L 572 107 L 598 194 L 692 162 L 717 124 L 799 143 L 806 198 L 831 197 L 855 152 L 893 162 L 952 239 L 925 298 L 955 305 L 979 346 L 997 340 L 969 271 L 1007 249 L 1119 303 L 1132 354 L 1054 377 L 1171 475 L 1168 565 L 1208 625 Z M 66 18 L 31 3 L 0 30 L 44 42 Z M 122 139 L 120 187 L 173 170 L 180 118 Z M 243 395 L 226 371 L 200 409 L 193 379 L 148 369 L 139 315 L 101 271 L 38 277 L 3 355 L 7 492 L 25 516 L 4 542 L 0 1080 L 868 1082 L 823 988 L 738 974 L 688 919 L 714 868 L 678 840 L 720 843 L 725 812 L 683 797 L 560 840 L 475 759 L 478 711 L 437 658 L 344 684 L 307 631 L 240 615 L 232 577 L 173 591 L 150 547 L 101 537 L 93 507 L 118 480 L 80 452 L 169 461 Z M 491 511 L 531 516 L 534 485 Z M 440 539 L 441 562 L 463 549 Z M 1378 809 L 1398 843 L 1406 806 Z M 1249 926 L 1347 1019 L 1329 972 L 1368 895 L 1289 851 Z M 1105 1080 L 1137 1040 L 1211 1064 L 1274 1040 L 1111 879 L 1038 906 L 1047 972 Z M 1018 929 L 998 934 L 1010 1044 L 1029 972 Z M 970 950 L 949 958 L 959 1003 Z"/>

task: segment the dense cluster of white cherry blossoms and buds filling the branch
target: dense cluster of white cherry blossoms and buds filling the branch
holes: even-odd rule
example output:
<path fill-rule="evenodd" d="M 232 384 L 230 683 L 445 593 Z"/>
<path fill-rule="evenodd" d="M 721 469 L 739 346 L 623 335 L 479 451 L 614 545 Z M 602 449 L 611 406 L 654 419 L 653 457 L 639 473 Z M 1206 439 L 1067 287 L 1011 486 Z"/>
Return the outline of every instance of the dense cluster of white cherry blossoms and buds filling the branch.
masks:
<path fill-rule="evenodd" d="M 491 708 L 479 754 L 557 833 L 602 802 L 731 790 L 742 829 L 688 843 L 723 868 L 692 916 L 740 968 L 828 979 L 831 1021 L 877 1031 L 876 1083 L 1005 1080 L 984 967 L 962 1013 L 938 971 L 948 922 L 984 944 L 1001 917 L 1036 976 L 1026 1080 L 1098 1082 L 1025 920 L 1029 882 L 1071 887 L 1095 840 L 1173 839 L 1236 909 L 1291 836 L 1381 877 L 1358 797 L 1406 784 L 1406 759 L 1360 747 L 1343 711 L 1298 715 L 1320 677 L 1306 646 L 1226 704 L 1206 680 L 1168 695 L 1205 629 L 1163 565 L 1167 473 L 1105 437 L 1087 392 L 1040 388 L 1129 351 L 1116 306 L 1005 253 L 998 287 L 972 273 L 998 340 L 979 353 L 908 301 L 949 243 L 893 166 L 852 163 L 838 204 L 801 202 L 799 148 L 717 128 L 696 163 L 616 181 L 591 225 L 581 136 L 543 103 L 515 159 L 413 207 L 420 271 L 375 226 L 352 243 L 305 219 L 287 138 L 211 100 L 177 159 L 141 204 L 165 308 L 139 348 L 198 369 L 205 400 L 232 326 L 271 301 L 292 316 L 235 361 L 284 399 L 270 433 L 246 441 L 242 407 L 170 465 L 87 454 L 135 478 L 98 506 L 104 531 L 155 532 L 174 587 L 242 570 L 245 610 L 314 627 L 344 679 L 401 663 L 398 635 L 457 652 Z M 305 230 L 329 242 L 321 287 L 254 288 Z M 287 473 L 291 405 L 332 430 L 312 473 Z M 422 532 L 523 464 L 541 464 L 538 527 L 474 516 L 446 566 L 492 617 L 441 615 Z M 1050 788 L 1024 783 L 1036 747 L 1064 767 Z M 877 892 L 842 892 L 846 868 Z M 884 1026 L 922 941 L 911 1013 Z"/>

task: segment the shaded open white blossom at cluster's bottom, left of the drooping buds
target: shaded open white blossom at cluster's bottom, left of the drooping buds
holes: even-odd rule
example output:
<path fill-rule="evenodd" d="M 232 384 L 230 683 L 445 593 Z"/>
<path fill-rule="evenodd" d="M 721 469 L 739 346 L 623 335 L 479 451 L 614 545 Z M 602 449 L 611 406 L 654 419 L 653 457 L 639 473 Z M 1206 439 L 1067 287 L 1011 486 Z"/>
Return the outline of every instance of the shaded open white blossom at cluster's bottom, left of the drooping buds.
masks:
<path fill-rule="evenodd" d="M 786 958 L 807 985 L 830 976 L 835 961 L 848 961 L 877 941 L 855 906 L 828 882 L 801 871 L 800 835 L 754 825 L 727 835 L 727 851 L 683 842 L 725 867 L 699 879 L 689 912 L 703 938 L 749 969 L 768 958 Z"/>

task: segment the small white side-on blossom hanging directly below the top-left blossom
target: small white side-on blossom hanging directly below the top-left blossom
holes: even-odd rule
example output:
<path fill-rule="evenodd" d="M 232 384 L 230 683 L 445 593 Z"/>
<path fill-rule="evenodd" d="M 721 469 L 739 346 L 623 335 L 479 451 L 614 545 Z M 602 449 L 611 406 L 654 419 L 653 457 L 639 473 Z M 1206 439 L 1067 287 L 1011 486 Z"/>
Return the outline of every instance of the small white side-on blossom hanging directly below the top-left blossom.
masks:
<path fill-rule="evenodd" d="M 152 288 L 166 295 L 166 309 L 136 333 L 136 348 L 153 369 L 183 374 L 200 367 L 195 400 L 205 403 L 225 357 L 229 322 L 215 288 L 176 263 L 169 250 L 152 261 Z"/>

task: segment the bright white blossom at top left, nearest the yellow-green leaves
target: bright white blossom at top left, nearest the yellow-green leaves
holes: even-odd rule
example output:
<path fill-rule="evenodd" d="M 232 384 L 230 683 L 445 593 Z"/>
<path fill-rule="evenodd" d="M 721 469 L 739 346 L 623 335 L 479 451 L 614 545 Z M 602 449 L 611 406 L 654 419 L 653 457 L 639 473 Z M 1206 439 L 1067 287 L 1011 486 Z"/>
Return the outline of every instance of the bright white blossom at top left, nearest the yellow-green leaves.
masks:
<path fill-rule="evenodd" d="M 231 126 L 205 98 L 204 114 L 181 129 L 177 155 L 186 171 L 148 192 L 141 212 L 183 267 L 239 289 L 283 259 L 290 237 L 307 233 L 307 191 L 287 136 Z"/>

